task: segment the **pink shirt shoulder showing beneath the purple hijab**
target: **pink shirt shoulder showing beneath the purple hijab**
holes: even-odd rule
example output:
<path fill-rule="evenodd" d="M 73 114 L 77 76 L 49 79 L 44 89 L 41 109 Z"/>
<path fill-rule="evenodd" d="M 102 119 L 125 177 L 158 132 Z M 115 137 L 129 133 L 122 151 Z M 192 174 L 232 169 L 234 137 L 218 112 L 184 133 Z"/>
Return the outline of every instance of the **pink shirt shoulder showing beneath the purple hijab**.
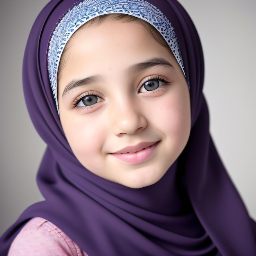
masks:
<path fill-rule="evenodd" d="M 88 256 L 61 229 L 33 218 L 13 240 L 8 256 Z"/>

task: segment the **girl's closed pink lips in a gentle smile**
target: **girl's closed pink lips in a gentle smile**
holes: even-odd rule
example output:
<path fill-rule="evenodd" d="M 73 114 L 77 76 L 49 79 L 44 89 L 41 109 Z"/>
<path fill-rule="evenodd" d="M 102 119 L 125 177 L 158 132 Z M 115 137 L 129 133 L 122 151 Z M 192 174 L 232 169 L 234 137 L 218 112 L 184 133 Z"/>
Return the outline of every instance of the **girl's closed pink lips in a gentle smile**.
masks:
<path fill-rule="evenodd" d="M 118 159 L 129 163 L 129 164 L 138 164 L 145 161 L 150 155 L 153 154 L 157 142 L 141 142 L 136 146 L 128 146 L 118 150 L 115 153 L 112 153 L 113 156 Z"/>

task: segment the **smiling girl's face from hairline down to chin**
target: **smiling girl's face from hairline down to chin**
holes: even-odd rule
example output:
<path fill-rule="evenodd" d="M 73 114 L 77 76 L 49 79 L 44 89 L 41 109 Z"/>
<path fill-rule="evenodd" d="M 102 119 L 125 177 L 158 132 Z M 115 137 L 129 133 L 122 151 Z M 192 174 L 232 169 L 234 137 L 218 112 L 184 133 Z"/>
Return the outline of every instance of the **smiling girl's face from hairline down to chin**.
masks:
<path fill-rule="evenodd" d="M 58 103 L 74 155 L 107 180 L 154 184 L 189 138 L 189 89 L 180 66 L 136 21 L 107 19 L 71 40 Z"/>

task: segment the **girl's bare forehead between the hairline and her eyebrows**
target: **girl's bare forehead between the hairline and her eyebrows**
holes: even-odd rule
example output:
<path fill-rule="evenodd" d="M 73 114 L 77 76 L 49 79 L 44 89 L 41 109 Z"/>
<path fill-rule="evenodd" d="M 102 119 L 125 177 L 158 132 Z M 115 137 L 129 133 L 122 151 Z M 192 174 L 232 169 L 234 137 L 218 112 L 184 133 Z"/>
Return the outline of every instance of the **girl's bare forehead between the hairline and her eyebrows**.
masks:
<path fill-rule="evenodd" d="M 136 63 L 146 63 L 160 56 L 173 56 L 168 47 L 161 45 L 148 29 L 136 21 L 107 19 L 97 26 L 78 30 L 69 43 L 61 57 L 58 89 L 67 77 L 67 80 L 72 80 L 81 74 L 103 76 L 115 70 L 117 78 L 123 71 L 130 71 L 130 67 Z"/>

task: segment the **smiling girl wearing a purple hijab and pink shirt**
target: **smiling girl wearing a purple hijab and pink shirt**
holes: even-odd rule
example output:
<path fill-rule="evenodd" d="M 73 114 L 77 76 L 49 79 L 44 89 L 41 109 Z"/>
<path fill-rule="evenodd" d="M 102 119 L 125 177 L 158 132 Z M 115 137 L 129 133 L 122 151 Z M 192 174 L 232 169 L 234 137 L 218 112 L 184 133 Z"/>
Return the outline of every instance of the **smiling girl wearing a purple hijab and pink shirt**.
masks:
<path fill-rule="evenodd" d="M 23 67 L 48 145 L 45 201 L 1 254 L 255 255 L 255 224 L 209 135 L 203 76 L 175 0 L 49 2 Z"/>

